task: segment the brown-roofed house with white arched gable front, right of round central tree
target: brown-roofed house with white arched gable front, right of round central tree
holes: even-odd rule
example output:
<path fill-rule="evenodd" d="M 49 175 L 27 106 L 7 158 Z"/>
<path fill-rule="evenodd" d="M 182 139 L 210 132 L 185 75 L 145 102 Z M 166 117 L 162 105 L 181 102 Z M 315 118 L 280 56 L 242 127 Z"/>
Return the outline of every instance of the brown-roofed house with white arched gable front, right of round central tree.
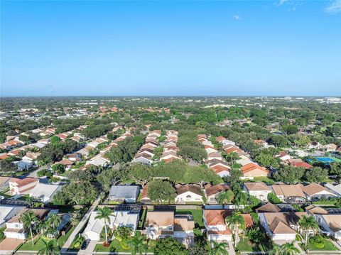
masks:
<path fill-rule="evenodd" d="M 202 191 L 199 185 L 195 184 L 185 184 L 176 185 L 176 197 L 175 203 L 185 203 L 185 202 L 203 202 L 202 201 Z"/>

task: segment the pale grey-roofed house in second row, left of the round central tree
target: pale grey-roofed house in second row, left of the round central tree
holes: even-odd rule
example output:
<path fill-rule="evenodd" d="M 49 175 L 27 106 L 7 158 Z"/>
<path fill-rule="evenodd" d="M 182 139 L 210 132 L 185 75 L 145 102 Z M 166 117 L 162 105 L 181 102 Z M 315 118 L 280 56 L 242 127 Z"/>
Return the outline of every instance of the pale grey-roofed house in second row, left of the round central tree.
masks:
<path fill-rule="evenodd" d="M 110 201 L 134 203 L 140 188 L 136 185 L 113 185 L 109 192 Z"/>

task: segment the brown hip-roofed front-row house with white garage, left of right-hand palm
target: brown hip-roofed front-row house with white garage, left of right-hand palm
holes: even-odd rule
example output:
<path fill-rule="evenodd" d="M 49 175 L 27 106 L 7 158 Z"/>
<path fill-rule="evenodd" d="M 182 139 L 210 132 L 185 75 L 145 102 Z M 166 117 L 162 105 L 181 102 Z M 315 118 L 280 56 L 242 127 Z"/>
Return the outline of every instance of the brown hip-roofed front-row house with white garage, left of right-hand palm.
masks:
<path fill-rule="evenodd" d="M 298 221 L 306 212 L 261 212 L 259 222 L 274 242 L 293 242 L 300 229 Z"/>

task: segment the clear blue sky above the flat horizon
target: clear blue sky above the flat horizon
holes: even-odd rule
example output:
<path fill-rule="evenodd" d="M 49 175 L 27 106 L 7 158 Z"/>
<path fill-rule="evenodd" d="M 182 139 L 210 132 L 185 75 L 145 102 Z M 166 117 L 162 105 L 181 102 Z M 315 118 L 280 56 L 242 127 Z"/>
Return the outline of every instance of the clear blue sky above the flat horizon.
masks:
<path fill-rule="evenodd" d="M 1 1 L 1 96 L 341 95 L 341 0 Z"/>

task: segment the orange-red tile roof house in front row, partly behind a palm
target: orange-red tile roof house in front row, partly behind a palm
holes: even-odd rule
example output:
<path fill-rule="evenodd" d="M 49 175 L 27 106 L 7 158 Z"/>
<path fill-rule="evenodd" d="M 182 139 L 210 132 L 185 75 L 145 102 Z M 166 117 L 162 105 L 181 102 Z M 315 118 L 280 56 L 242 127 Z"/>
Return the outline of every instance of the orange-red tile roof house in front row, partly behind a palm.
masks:
<path fill-rule="evenodd" d="M 232 215 L 233 210 L 203 210 L 207 240 L 215 242 L 232 242 L 232 230 L 227 226 L 225 218 Z M 253 222 L 249 214 L 242 214 L 246 228 L 252 227 Z M 239 232 L 242 229 L 239 229 Z"/>

